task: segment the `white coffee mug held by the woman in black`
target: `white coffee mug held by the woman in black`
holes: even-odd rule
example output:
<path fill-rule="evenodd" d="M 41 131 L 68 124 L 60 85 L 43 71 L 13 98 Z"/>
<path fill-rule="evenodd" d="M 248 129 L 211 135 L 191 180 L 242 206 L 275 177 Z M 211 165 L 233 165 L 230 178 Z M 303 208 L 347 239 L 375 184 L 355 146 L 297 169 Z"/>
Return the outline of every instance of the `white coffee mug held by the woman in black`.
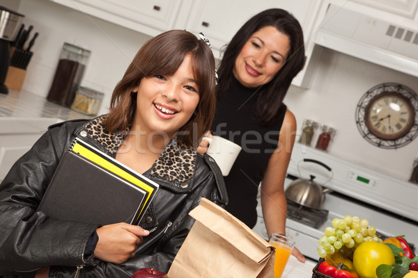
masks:
<path fill-rule="evenodd" d="M 203 137 L 203 140 L 209 142 L 208 152 L 222 171 L 223 176 L 228 176 L 232 165 L 235 162 L 241 147 L 230 140 L 219 136 Z"/>

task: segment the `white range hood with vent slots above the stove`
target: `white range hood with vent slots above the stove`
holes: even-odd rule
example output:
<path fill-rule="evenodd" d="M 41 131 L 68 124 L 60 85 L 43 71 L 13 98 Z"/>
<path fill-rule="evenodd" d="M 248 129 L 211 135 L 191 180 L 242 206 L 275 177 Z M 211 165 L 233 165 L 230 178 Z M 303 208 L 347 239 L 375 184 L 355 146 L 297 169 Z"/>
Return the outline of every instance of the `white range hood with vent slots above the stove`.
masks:
<path fill-rule="evenodd" d="M 331 4 L 314 42 L 418 77 L 418 30 L 413 28 Z"/>

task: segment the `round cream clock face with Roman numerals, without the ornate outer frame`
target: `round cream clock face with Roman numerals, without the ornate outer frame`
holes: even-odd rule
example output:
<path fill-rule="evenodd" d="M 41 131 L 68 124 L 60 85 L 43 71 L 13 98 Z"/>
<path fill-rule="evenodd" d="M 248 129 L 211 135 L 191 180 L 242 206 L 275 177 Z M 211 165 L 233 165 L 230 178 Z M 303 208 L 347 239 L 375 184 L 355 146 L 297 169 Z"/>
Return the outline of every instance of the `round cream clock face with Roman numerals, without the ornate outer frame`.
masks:
<path fill-rule="evenodd" d="M 378 138 L 394 140 L 410 131 L 415 111 L 410 101 L 397 92 L 383 92 L 366 107 L 366 126 Z"/>

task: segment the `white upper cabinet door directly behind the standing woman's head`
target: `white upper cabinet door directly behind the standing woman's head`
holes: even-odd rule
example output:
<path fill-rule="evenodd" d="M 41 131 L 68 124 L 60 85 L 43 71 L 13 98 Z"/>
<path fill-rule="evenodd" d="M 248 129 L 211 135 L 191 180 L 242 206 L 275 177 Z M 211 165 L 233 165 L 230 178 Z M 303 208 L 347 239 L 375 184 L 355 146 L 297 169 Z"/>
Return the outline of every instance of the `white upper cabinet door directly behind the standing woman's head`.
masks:
<path fill-rule="evenodd" d="M 231 40 L 242 24 L 262 10 L 268 8 L 288 10 L 304 28 L 310 6 L 311 3 L 307 0 L 195 0 L 186 26 L 179 27 L 194 33 L 202 32 L 209 38 L 212 47 L 219 50 Z"/>

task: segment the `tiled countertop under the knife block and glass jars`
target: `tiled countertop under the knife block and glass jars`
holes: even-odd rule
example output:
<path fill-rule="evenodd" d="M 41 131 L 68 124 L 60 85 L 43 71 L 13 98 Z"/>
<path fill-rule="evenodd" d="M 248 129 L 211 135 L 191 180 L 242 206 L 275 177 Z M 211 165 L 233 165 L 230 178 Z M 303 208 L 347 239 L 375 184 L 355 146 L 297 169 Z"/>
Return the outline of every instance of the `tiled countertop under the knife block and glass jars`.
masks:
<path fill-rule="evenodd" d="M 59 106 L 31 92 L 10 90 L 7 95 L 0 94 L 0 117 L 17 118 L 55 118 L 73 120 L 91 116 Z"/>

